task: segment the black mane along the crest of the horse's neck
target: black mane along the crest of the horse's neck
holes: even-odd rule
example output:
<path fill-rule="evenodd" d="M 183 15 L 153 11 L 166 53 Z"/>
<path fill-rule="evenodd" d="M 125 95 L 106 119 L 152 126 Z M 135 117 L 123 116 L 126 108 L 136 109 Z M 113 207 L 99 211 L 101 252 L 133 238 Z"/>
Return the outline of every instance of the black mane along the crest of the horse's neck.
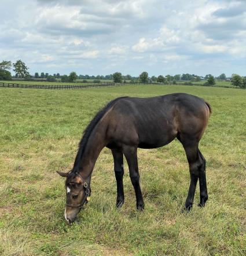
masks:
<path fill-rule="evenodd" d="M 115 98 L 115 100 L 109 101 L 109 103 L 107 105 L 105 105 L 105 107 L 101 108 L 97 112 L 97 114 L 94 116 L 94 118 L 90 121 L 89 125 L 87 125 L 86 129 L 83 131 L 82 139 L 79 142 L 79 149 L 78 149 L 78 153 L 77 153 L 76 158 L 75 158 L 73 170 L 75 170 L 75 167 L 76 167 L 76 164 L 77 164 L 78 160 L 81 160 L 83 158 L 83 153 L 85 152 L 87 142 L 89 140 L 90 134 L 92 133 L 94 127 L 96 127 L 96 125 L 101 120 L 102 116 L 105 115 L 105 113 L 108 111 L 108 109 L 111 108 L 112 105 L 116 101 L 120 100 L 121 98 L 127 98 L 127 97 L 126 96 L 125 97 L 119 97 L 119 98 Z"/>

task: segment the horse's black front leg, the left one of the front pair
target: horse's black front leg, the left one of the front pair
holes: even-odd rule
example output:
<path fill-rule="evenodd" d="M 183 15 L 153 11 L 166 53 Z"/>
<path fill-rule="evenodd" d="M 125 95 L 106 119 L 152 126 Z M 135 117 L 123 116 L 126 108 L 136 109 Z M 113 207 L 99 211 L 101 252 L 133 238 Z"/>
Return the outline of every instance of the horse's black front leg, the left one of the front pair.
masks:
<path fill-rule="evenodd" d="M 124 203 L 124 188 L 123 188 L 123 153 L 116 149 L 112 149 L 113 164 L 115 169 L 115 178 L 117 182 L 117 199 L 116 207 L 121 207 Z"/>

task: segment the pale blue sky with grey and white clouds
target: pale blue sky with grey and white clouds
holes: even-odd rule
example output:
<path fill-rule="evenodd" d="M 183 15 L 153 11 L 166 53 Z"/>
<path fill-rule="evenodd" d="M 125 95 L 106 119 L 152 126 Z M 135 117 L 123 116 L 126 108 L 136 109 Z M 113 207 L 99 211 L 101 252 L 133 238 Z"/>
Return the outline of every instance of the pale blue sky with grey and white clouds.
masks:
<path fill-rule="evenodd" d="M 0 61 L 30 74 L 246 75 L 246 0 L 0 4 Z"/>

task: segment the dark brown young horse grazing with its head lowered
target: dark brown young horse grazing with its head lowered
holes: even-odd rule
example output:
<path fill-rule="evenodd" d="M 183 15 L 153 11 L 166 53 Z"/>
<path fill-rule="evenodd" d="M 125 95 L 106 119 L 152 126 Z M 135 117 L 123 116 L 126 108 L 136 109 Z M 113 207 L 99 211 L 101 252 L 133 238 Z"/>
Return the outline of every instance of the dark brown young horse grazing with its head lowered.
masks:
<path fill-rule="evenodd" d="M 65 219 L 74 222 L 80 209 L 90 199 L 90 180 L 102 148 L 111 149 L 117 182 L 116 206 L 124 203 L 123 155 L 129 167 L 137 209 L 144 209 L 139 185 L 137 148 L 158 148 L 177 138 L 185 149 L 189 163 L 190 186 L 185 209 L 192 208 L 197 180 L 200 204 L 208 199 L 205 159 L 198 146 L 207 126 L 211 108 L 202 98 L 174 93 L 151 98 L 120 97 L 109 102 L 87 126 L 79 143 L 74 167 L 66 177 Z"/>

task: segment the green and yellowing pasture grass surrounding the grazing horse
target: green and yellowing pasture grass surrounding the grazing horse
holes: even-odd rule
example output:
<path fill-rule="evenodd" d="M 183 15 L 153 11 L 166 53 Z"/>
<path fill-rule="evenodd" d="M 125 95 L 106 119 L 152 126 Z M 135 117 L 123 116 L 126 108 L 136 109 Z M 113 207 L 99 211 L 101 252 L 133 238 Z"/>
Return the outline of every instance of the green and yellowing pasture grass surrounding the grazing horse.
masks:
<path fill-rule="evenodd" d="M 124 164 L 126 203 L 116 210 L 111 151 L 91 180 L 78 223 L 64 220 L 64 180 L 82 131 L 119 96 L 185 92 L 213 109 L 200 143 L 207 159 L 209 200 L 182 213 L 189 170 L 181 144 L 139 149 L 145 210 L 135 210 Z M 122 86 L 87 90 L 0 89 L 0 255 L 245 255 L 246 91 L 196 86 Z"/>

